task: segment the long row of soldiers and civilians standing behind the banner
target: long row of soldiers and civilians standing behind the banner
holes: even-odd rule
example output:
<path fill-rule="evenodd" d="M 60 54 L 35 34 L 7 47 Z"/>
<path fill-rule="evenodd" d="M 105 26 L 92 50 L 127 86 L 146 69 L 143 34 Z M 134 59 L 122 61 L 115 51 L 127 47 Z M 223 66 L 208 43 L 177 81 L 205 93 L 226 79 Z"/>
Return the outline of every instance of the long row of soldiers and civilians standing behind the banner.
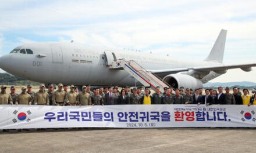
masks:
<path fill-rule="evenodd" d="M 68 91 L 68 89 L 70 90 Z M 108 88 L 94 88 L 91 86 L 82 86 L 81 92 L 74 86 L 70 87 L 59 83 L 58 89 L 54 91 L 54 85 L 49 85 L 48 91 L 45 85 L 40 85 L 38 92 L 32 91 L 32 86 L 23 86 L 22 93 L 17 94 L 15 86 L 11 86 L 10 93 L 6 92 L 6 86 L 1 86 L 0 104 L 28 104 L 28 105 L 122 105 L 122 104 L 244 104 L 250 106 L 256 104 L 255 94 L 250 95 L 248 89 L 243 89 L 243 95 L 239 88 L 234 87 L 233 93 L 230 93 L 229 87 L 220 86 L 218 92 L 214 89 L 205 89 L 203 95 L 202 88 L 195 89 L 173 89 L 172 87 L 164 88 L 161 93 L 160 88 L 155 89 L 155 93 L 145 88 L 130 89 L 129 86 L 122 88 L 119 92 L 118 86 Z"/>

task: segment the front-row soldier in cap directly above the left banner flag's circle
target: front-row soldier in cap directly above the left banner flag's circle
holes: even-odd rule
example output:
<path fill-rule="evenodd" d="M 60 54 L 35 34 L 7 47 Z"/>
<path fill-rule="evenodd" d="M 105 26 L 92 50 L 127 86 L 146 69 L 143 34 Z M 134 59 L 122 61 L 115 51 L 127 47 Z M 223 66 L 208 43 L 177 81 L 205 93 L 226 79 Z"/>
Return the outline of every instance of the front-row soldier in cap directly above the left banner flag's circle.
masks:
<path fill-rule="evenodd" d="M 20 104 L 20 105 L 31 105 L 32 104 L 32 97 L 30 96 L 29 93 L 27 93 L 27 88 L 26 86 L 22 87 L 22 93 L 20 93 L 17 96 L 16 99 L 16 104 Z"/>

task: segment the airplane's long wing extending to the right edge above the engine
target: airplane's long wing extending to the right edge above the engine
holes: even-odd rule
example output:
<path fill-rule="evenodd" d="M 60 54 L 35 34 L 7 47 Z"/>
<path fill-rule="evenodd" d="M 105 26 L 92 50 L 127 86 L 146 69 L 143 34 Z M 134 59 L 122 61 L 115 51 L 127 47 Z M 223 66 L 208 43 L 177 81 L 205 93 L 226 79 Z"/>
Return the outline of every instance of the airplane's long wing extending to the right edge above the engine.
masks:
<path fill-rule="evenodd" d="M 158 75 L 159 77 L 164 77 L 168 74 L 175 74 L 177 72 L 184 72 L 189 70 L 194 70 L 198 72 L 210 72 L 215 71 L 225 71 L 228 69 L 233 68 L 241 68 L 243 71 L 251 71 L 251 67 L 256 67 L 256 63 L 250 64 L 218 64 L 218 65 L 209 65 L 203 67 L 187 67 L 187 68 L 173 68 L 173 69 L 166 69 L 166 70 L 150 70 L 154 74 Z"/>

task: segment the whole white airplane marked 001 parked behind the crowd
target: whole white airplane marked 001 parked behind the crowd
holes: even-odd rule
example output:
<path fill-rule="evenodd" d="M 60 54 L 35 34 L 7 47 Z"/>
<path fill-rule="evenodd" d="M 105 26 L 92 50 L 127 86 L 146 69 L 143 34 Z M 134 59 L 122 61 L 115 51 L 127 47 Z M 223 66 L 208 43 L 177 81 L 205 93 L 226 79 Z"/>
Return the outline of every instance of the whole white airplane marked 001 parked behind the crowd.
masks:
<path fill-rule="evenodd" d="M 24 79 L 67 85 L 91 86 L 137 86 L 151 81 L 143 78 L 141 83 L 134 74 L 138 71 L 126 71 L 113 64 L 119 59 L 134 61 L 144 71 L 155 75 L 165 85 L 173 88 L 197 89 L 202 84 L 225 74 L 232 68 L 241 68 L 249 72 L 256 63 L 223 64 L 226 42 L 226 30 L 221 30 L 216 42 L 205 60 L 179 60 L 170 56 L 130 52 L 130 50 L 109 49 L 99 46 L 81 45 L 72 42 L 34 42 L 17 46 L 9 54 L 0 57 L 0 67 Z M 130 67 L 129 67 L 130 68 Z M 159 82 L 159 81 L 156 81 Z M 152 85 L 154 88 L 156 85 Z"/>

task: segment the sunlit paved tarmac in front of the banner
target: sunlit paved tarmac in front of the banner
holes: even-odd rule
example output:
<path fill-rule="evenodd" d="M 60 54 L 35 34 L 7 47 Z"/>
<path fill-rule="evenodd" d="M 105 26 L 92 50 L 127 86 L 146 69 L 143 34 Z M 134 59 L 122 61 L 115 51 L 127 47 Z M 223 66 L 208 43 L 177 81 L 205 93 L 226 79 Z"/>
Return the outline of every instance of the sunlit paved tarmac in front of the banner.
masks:
<path fill-rule="evenodd" d="M 0 152 L 255 152 L 248 128 L 48 129 L 0 133 Z"/>

